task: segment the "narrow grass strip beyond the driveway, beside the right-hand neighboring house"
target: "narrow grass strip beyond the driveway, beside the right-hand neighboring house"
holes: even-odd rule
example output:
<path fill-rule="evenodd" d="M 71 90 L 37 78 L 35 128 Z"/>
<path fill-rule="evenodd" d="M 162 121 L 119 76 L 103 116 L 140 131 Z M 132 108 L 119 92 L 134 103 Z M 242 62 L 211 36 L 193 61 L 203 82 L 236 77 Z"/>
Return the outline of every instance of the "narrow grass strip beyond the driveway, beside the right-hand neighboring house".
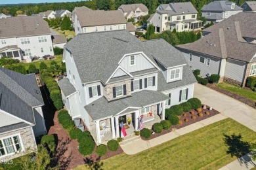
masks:
<path fill-rule="evenodd" d="M 233 84 L 229 84 L 227 82 L 220 82 L 219 84 L 217 84 L 218 88 L 221 88 L 223 90 L 227 90 L 229 92 L 232 93 L 236 93 L 238 95 L 242 95 L 244 97 L 247 97 L 249 99 L 253 99 L 256 101 L 256 93 L 246 90 L 244 88 L 240 88 L 240 86 L 235 86 Z"/>

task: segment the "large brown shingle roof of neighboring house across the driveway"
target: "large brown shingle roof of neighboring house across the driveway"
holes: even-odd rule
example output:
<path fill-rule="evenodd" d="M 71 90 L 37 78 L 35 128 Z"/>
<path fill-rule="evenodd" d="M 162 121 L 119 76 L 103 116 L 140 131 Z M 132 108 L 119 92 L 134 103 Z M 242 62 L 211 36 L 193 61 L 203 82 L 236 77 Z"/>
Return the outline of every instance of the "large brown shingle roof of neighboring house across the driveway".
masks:
<path fill-rule="evenodd" d="M 218 58 L 233 58 L 249 62 L 256 53 L 256 44 L 247 43 L 243 37 L 256 38 L 256 13 L 239 12 L 226 20 L 219 22 L 203 31 L 208 35 L 190 44 L 183 44 L 183 48 Z"/>

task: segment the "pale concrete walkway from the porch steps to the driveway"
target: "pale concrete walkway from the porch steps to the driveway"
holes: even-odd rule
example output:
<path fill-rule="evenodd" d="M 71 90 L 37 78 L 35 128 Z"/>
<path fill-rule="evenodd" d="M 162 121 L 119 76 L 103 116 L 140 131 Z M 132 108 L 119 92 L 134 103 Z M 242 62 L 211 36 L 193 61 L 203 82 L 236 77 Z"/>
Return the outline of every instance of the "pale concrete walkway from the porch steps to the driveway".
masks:
<path fill-rule="evenodd" d="M 156 137 L 148 141 L 138 139 L 137 141 L 133 141 L 132 143 L 121 145 L 121 148 L 123 149 L 123 152 L 125 152 L 126 154 L 137 154 L 143 150 L 147 150 L 148 148 L 154 147 L 158 144 L 165 143 L 167 141 L 170 141 L 171 139 L 175 139 L 176 137 L 179 137 L 186 133 L 190 133 L 191 131 L 194 131 L 196 129 L 200 129 L 201 127 L 213 124 L 215 122 L 219 122 L 220 120 L 223 120 L 225 118 L 226 116 L 224 116 L 223 114 L 217 114 L 215 116 L 212 116 L 211 118 L 201 120 L 200 122 L 196 122 L 186 127 L 182 127 L 181 129 L 171 131 L 170 133 L 161 135 L 160 137 Z"/>

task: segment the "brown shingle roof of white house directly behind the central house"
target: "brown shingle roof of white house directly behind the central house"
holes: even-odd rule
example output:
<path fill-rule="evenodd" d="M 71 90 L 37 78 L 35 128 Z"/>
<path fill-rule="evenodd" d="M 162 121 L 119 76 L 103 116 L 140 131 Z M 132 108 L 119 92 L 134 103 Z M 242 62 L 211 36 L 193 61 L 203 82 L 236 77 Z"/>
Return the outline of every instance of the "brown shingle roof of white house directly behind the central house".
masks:
<path fill-rule="evenodd" d="M 81 27 L 127 23 L 120 10 L 78 10 L 76 14 Z"/>

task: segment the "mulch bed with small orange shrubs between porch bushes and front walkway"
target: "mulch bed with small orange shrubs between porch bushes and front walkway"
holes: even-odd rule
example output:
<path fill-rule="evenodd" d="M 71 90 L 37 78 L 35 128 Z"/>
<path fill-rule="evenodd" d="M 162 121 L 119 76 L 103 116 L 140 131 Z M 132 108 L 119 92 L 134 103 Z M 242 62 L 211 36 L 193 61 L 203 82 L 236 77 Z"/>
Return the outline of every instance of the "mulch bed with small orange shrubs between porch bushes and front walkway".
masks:
<path fill-rule="evenodd" d="M 199 121 L 204 120 L 206 118 L 210 118 L 211 116 L 215 116 L 216 114 L 220 113 L 215 109 L 209 110 L 209 108 L 210 107 L 206 105 L 206 109 L 203 109 L 203 105 L 202 105 L 202 113 L 203 113 L 202 117 L 198 116 L 198 111 L 192 109 L 195 112 L 194 116 L 196 116 L 196 119 L 192 119 L 192 114 L 190 114 L 190 112 L 186 112 L 186 117 L 184 117 L 183 115 L 180 116 L 180 120 L 182 121 L 182 124 L 178 124 L 178 125 L 175 125 L 175 126 L 172 125 L 169 129 L 167 129 L 167 130 L 163 129 L 163 131 L 161 131 L 161 133 L 155 133 L 154 135 L 151 135 L 151 137 L 149 137 L 148 139 L 146 139 L 142 136 L 140 136 L 140 137 L 141 137 L 142 140 L 148 141 L 150 139 L 154 139 L 156 137 L 159 137 L 161 135 L 164 135 L 166 133 L 174 131 L 175 129 L 181 129 L 182 127 L 188 126 L 190 124 L 194 124 L 196 122 L 199 122 Z M 207 111 L 210 113 L 209 115 L 205 114 L 205 112 L 207 112 Z M 183 114 L 184 113 L 185 112 L 183 112 Z M 185 118 L 187 118 L 189 121 L 185 122 Z M 154 132 L 152 129 L 150 129 L 150 130 L 152 132 Z"/>

